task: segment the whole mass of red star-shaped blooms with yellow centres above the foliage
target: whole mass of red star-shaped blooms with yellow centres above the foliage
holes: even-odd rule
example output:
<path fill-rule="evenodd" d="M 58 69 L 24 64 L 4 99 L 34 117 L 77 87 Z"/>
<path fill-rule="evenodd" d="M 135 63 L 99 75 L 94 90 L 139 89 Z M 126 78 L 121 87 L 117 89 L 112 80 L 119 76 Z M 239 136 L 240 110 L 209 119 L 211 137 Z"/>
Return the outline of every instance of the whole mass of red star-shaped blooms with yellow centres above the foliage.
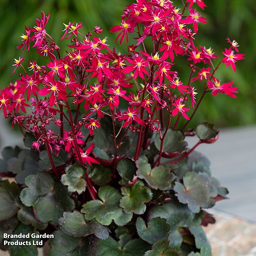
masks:
<path fill-rule="evenodd" d="M 163 137 L 164 110 L 169 116 L 166 128 L 169 128 L 173 116 L 178 115 L 174 128 L 181 115 L 189 120 L 186 112 L 190 108 L 187 105 L 191 104 L 194 109 L 198 106 L 197 92 L 192 83 L 201 86 L 200 82 L 204 80 L 204 94 L 209 91 L 213 96 L 225 93 L 236 97 L 234 93 L 238 87 L 233 87 L 233 82 L 221 84 L 215 78 L 215 71 L 225 63 L 235 72 L 236 62 L 243 59 L 242 54 L 235 53 L 238 52 L 238 43 L 228 38 L 230 47 L 223 51 L 224 57 L 216 66 L 213 62 L 219 57 L 211 48 L 194 45 L 198 24 L 206 23 L 206 18 L 197 9 L 204 7 L 203 0 L 187 0 L 183 10 L 169 0 L 137 0 L 128 5 L 121 16 L 121 24 L 110 30 L 118 32 L 116 40 L 120 44 L 124 39 L 128 42 L 129 34 L 137 34 L 137 45 L 128 46 L 128 55 L 111 50 L 107 38 L 97 36 L 102 32 L 100 27 L 83 35 L 82 23 L 69 22 L 64 24 L 61 40 L 71 39 L 71 50 L 60 56 L 59 46 L 46 32 L 49 14 L 46 16 L 42 12 L 36 26 L 25 27 L 18 48 L 29 50 L 32 46 L 39 55 L 49 58 L 49 63 L 43 66 L 31 61 L 26 69 L 23 58 L 14 59 L 14 71 L 20 69 L 23 73 L 20 79 L 0 91 L 0 109 L 5 118 L 13 119 L 13 124 L 18 123 L 21 129 L 36 135 L 38 140 L 33 147 L 37 150 L 40 150 L 41 143 L 46 143 L 56 154 L 64 147 L 76 159 L 89 165 L 98 161 L 91 154 L 93 144 L 83 149 L 87 139 L 82 136 L 81 128 L 88 128 L 92 136 L 101 127 L 101 119 L 109 115 L 113 123 L 120 122 L 123 128 L 139 132 L 136 160 L 146 129 L 159 132 L 160 138 Z M 184 16 L 186 8 L 188 16 Z M 93 33 L 96 37 L 92 36 Z M 152 38 L 152 52 L 146 50 L 146 37 Z M 138 50 L 140 48 L 143 50 Z M 190 63 L 187 83 L 182 82 L 175 71 L 174 63 L 179 55 L 187 56 Z M 76 105 L 74 119 L 69 99 Z M 124 102 L 122 106 L 127 106 L 126 110 L 121 111 L 120 101 Z M 26 113 L 26 107 L 32 109 L 30 114 L 20 115 L 21 111 Z M 84 108 L 85 114 L 78 120 L 80 107 Z M 50 121 L 60 127 L 59 134 L 46 129 Z M 70 131 L 63 131 L 64 121 L 70 124 Z M 116 137 L 115 134 L 114 139 Z"/>

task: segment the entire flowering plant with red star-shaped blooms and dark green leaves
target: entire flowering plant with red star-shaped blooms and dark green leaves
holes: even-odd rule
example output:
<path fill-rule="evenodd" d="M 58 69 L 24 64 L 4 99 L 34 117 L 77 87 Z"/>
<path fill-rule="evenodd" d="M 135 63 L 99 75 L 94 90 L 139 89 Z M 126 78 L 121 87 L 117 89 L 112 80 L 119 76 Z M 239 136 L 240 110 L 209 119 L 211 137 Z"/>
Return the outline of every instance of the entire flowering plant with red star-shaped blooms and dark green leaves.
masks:
<path fill-rule="evenodd" d="M 14 59 L 22 73 L 0 91 L 0 109 L 26 147 L 2 152 L 0 174 L 16 181 L 0 182 L 2 233 L 53 233 L 54 256 L 211 255 L 201 225 L 214 218 L 203 209 L 228 191 L 195 149 L 219 132 L 209 123 L 187 126 L 207 93 L 236 97 L 238 87 L 215 73 L 222 63 L 235 72 L 243 55 L 229 38 L 217 64 L 211 48 L 195 46 L 206 23 L 197 9 L 205 7 L 202 0 L 182 9 L 169 0 L 128 5 L 110 30 L 120 44 L 135 35 L 127 55 L 110 49 L 100 27 L 84 35 L 82 23 L 64 24 L 60 40 L 71 40 L 64 56 L 46 31 L 49 14 L 25 27 L 18 48 L 32 46 L 49 62 L 26 69 L 24 58 Z M 191 70 L 186 83 L 175 70 L 179 58 Z M 188 136 L 198 137 L 190 149 Z M 12 241 L 2 241 L 11 255 L 37 255 L 35 246 Z"/>

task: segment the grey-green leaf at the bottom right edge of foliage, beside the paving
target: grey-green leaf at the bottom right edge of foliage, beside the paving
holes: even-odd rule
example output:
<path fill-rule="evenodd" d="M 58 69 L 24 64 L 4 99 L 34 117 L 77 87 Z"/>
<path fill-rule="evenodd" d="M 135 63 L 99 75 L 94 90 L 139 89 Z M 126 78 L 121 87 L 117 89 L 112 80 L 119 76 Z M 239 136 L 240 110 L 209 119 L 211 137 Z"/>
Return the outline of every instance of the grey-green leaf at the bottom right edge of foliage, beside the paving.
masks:
<path fill-rule="evenodd" d="M 195 237 L 196 246 L 200 249 L 200 253 L 203 256 L 211 256 L 211 248 L 206 234 L 201 226 L 191 226 L 189 227 L 190 232 Z"/>

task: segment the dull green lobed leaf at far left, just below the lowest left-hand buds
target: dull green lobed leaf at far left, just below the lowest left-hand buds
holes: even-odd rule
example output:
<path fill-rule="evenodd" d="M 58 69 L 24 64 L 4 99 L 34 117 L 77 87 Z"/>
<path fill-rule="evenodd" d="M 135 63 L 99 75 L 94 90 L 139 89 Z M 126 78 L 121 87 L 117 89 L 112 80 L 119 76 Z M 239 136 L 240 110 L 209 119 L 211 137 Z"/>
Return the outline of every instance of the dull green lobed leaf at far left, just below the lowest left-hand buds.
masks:
<path fill-rule="evenodd" d="M 30 174 L 36 174 L 38 171 L 38 152 L 33 150 L 22 150 L 17 157 L 12 157 L 7 162 L 7 168 L 10 172 L 17 174 L 15 180 L 19 184 L 25 183 L 25 178 Z"/>

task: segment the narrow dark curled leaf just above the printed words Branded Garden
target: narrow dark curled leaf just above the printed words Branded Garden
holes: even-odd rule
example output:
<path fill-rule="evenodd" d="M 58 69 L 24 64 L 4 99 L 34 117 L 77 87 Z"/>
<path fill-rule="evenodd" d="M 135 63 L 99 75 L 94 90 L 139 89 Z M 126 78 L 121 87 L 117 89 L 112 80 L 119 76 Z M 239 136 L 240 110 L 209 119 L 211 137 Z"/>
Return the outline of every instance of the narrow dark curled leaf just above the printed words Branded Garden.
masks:
<path fill-rule="evenodd" d="M 35 218 L 32 207 L 24 206 L 18 198 L 16 198 L 16 205 L 20 208 L 17 213 L 18 220 L 23 224 L 32 225 L 39 230 L 47 228 L 48 223 L 42 223 Z"/>

